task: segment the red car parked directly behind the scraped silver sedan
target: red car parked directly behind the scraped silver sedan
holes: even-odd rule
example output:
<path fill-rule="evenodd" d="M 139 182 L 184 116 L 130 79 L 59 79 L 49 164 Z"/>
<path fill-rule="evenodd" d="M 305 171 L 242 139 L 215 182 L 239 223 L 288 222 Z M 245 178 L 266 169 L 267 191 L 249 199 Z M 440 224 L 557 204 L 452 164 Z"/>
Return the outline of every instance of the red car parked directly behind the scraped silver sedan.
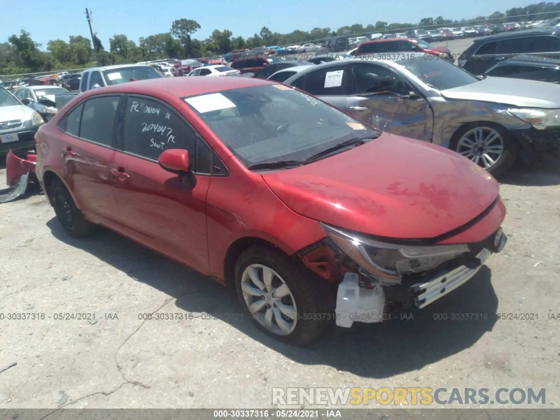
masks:
<path fill-rule="evenodd" d="M 368 41 L 358 46 L 355 57 L 357 58 L 360 56 L 364 57 L 366 55 L 371 55 L 372 58 L 383 59 L 383 56 L 387 53 L 390 53 L 391 56 L 395 55 L 395 53 L 426 53 L 437 55 L 438 57 L 449 60 L 450 62 L 455 61 L 450 49 L 446 46 L 433 46 L 421 39 L 410 38 L 389 38 Z M 391 56 L 386 58 L 390 59 Z"/>

